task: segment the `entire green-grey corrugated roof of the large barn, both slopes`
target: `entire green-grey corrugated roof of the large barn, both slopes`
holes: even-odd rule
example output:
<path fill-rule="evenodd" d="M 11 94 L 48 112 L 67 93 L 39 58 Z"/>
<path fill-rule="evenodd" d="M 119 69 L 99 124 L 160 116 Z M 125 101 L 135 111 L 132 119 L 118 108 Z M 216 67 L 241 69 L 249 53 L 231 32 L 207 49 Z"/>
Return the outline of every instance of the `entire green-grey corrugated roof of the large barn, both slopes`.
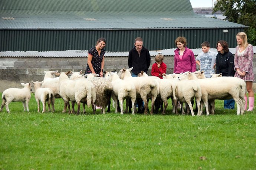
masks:
<path fill-rule="evenodd" d="M 14 18 L 6 20 L 4 18 Z M 89 18 L 86 20 L 85 18 Z M 244 25 L 194 14 L 189 0 L 1 0 L 0 29 L 189 29 Z"/>

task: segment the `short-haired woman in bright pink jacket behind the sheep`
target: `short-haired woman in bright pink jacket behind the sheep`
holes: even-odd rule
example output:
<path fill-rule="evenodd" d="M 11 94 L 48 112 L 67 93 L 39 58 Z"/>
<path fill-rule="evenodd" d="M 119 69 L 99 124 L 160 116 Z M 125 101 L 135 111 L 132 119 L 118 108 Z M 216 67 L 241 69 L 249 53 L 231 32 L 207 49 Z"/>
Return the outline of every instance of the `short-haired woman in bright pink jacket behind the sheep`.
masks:
<path fill-rule="evenodd" d="M 178 37 L 175 40 L 177 49 L 174 50 L 174 73 L 195 72 L 196 59 L 192 50 L 187 48 L 187 40 L 185 37 Z"/>

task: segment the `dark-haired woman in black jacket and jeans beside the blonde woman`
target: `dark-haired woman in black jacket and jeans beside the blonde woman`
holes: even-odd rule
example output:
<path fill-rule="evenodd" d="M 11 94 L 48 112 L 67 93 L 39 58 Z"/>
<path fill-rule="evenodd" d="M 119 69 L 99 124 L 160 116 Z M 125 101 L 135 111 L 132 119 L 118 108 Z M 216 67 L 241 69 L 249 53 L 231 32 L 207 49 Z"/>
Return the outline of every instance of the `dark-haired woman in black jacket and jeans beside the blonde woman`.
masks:
<path fill-rule="evenodd" d="M 219 52 L 216 56 L 216 73 L 222 76 L 234 76 L 234 55 L 229 52 L 229 45 L 226 41 L 220 40 L 216 45 Z M 225 109 L 234 109 L 234 99 L 224 100 Z"/>

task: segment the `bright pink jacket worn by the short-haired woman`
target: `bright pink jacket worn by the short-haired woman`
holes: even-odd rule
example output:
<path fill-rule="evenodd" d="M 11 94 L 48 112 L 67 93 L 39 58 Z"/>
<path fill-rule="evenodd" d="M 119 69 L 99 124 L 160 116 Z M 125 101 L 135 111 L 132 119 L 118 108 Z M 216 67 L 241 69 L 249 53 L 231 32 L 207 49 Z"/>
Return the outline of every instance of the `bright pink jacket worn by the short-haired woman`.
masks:
<path fill-rule="evenodd" d="M 181 72 L 195 72 L 196 71 L 196 59 L 194 53 L 189 48 L 185 47 L 185 51 L 183 53 L 183 57 L 180 60 L 179 58 L 179 49 L 174 50 L 174 73 Z"/>

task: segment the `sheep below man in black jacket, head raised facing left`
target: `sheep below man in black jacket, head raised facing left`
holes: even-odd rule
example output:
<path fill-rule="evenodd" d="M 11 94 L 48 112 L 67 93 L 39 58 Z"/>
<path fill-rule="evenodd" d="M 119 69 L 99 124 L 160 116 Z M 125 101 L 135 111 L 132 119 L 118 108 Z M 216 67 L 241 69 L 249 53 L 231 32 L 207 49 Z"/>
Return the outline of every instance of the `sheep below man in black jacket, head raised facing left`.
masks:
<path fill-rule="evenodd" d="M 152 115 L 153 110 L 154 110 L 155 98 L 157 97 L 157 94 L 159 93 L 158 88 L 157 88 L 157 82 L 154 79 L 151 79 L 148 77 L 132 77 L 132 75 L 130 73 L 132 68 L 121 69 L 118 72 L 118 76 L 119 76 L 119 78 L 130 81 L 135 85 L 137 97 L 140 97 L 144 101 L 144 105 L 145 105 L 144 114 L 145 115 L 148 114 L 147 97 L 151 98 L 150 114 Z"/>

